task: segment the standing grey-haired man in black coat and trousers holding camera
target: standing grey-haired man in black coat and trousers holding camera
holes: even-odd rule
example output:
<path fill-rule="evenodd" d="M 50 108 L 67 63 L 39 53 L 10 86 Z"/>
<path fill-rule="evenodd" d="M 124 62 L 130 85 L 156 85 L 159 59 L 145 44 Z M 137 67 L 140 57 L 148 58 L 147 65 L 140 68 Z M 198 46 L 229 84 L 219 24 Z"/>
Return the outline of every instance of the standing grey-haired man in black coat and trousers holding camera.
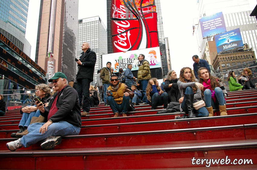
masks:
<path fill-rule="evenodd" d="M 79 59 L 75 59 L 78 64 L 78 73 L 76 75 L 77 79 L 77 92 L 79 95 L 80 106 L 83 103 L 82 116 L 89 115 L 90 110 L 90 98 L 89 98 L 89 85 L 93 81 L 95 64 L 96 64 L 96 53 L 91 51 L 90 45 L 87 42 L 83 42 L 81 45 L 81 50 L 83 51 Z M 84 95 L 84 100 L 82 102 L 82 95 Z"/>

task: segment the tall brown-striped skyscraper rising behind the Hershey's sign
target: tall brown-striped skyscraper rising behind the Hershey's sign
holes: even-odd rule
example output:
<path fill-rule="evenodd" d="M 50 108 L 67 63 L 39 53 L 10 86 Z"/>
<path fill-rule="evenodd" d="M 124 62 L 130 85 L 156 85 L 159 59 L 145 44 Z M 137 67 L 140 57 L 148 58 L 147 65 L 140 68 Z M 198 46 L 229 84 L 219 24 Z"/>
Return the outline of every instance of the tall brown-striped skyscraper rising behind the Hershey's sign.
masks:
<path fill-rule="evenodd" d="M 41 0 L 35 62 L 49 78 L 59 71 L 76 78 L 78 7 L 76 0 Z"/>

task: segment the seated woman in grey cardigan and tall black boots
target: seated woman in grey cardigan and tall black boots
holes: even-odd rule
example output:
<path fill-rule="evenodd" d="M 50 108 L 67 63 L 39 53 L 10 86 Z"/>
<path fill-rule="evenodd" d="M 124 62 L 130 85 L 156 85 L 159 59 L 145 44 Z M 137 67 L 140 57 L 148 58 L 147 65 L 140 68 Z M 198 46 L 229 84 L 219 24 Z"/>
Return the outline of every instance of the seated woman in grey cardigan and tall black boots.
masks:
<path fill-rule="evenodd" d="M 183 67 L 180 70 L 177 85 L 181 93 L 181 98 L 179 99 L 180 111 L 187 112 L 188 117 L 184 115 L 175 119 L 207 117 L 209 112 L 204 106 L 195 110 L 197 114 L 194 115 L 193 103 L 202 100 L 201 90 L 203 89 L 203 85 L 195 79 L 190 67 Z"/>

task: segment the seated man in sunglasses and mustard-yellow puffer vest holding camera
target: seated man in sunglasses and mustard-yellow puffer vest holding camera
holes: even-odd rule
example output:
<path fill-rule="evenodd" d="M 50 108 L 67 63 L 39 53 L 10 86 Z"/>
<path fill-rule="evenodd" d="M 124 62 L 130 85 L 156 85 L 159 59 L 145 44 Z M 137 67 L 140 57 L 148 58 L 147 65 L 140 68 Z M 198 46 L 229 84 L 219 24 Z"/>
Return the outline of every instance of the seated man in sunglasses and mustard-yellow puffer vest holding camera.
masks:
<path fill-rule="evenodd" d="M 119 117 L 119 113 L 122 113 L 123 117 L 127 116 L 126 113 L 130 107 L 129 100 L 133 97 L 134 93 L 129 90 L 128 86 L 121 83 L 113 74 L 110 86 L 107 88 L 107 102 L 114 113 L 113 117 Z"/>

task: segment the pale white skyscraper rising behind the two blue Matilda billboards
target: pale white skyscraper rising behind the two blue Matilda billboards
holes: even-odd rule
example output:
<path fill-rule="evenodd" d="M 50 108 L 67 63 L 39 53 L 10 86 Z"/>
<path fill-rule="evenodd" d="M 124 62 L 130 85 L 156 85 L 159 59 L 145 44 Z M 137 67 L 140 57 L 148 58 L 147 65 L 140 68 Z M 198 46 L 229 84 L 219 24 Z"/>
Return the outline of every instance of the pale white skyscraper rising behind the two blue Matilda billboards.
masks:
<path fill-rule="evenodd" d="M 257 28 L 256 20 L 254 17 L 250 17 L 251 9 L 249 7 L 248 0 L 230 0 L 222 1 L 217 0 L 215 2 L 211 0 L 197 1 L 197 9 L 199 18 L 203 16 L 213 15 L 217 12 L 223 12 L 226 30 L 230 31 L 236 28 L 240 28 L 243 43 L 247 43 L 249 48 L 253 48 L 253 51 L 257 51 Z M 194 18 L 193 23 L 195 27 L 195 34 L 197 36 L 197 42 L 199 46 L 199 52 L 201 57 L 208 56 L 208 43 L 212 41 L 213 36 L 208 38 L 202 38 L 202 31 L 199 25 L 199 18 Z M 215 54 L 216 55 L 216 54 Z M 213 60 L 211 60 L 213 62 Z"/>

